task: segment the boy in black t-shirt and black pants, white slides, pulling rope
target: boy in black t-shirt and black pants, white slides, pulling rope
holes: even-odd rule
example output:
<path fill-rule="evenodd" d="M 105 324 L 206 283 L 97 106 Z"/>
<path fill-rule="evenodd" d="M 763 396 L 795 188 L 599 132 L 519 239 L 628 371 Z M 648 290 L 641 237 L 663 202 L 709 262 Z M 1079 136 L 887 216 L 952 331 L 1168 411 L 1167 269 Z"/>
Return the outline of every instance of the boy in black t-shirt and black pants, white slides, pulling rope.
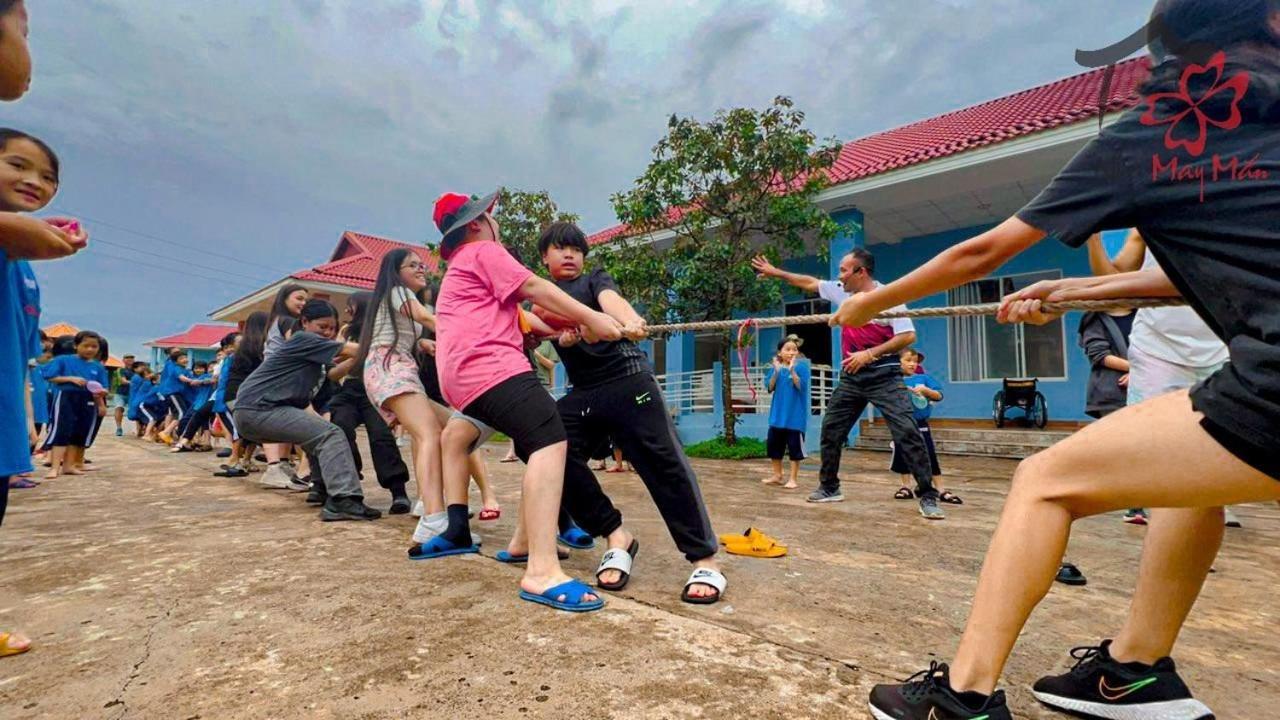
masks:
<path fill-rule="evenodd" d="M 582 273 L 589 247 L 577 225 L 552 224 L 539 238 L 538 250 L 561 290 L 623 324 L 622 340 L 591 342 L 576 329 L 566 328 L 562 319 L 534 310 L 549 325 L 563 331 L 558 350 L 573 387 L 558 402 L 568 436 L 562 505 L 584 530 L 608 542 L 609 550 L 596 571 L 599 587 L 622 589 L 639 550 L 635 537 L 622 525 L 622 514 L 588 466 L 591 451 L 612 436 L 644 480 L 676 547 L 694 564 L 681 598 L 699 605 L 717 602 L 726 587 L 716 562 L 719 543 L 649 359 L 632 342 L 644 337 L 644 320 L 618 293 L 608 273 L 599 269 Z"/>

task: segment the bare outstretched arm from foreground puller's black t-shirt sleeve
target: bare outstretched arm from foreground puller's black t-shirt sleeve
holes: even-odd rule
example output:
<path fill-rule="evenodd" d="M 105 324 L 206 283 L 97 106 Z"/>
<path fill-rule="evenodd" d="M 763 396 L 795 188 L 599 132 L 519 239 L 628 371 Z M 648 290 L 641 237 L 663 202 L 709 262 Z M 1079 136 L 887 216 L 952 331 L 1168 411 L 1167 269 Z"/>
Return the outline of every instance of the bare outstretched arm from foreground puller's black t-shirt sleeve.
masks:
<path fill-rule="evenodd" d="M 948 247 L 904 278 L 850 297 L 832 315 L 831 324 L 865 325 L 890 307 L 989 275 L 1043 237 L 1043 231 L 1010 218 L 978 237 Z"/>

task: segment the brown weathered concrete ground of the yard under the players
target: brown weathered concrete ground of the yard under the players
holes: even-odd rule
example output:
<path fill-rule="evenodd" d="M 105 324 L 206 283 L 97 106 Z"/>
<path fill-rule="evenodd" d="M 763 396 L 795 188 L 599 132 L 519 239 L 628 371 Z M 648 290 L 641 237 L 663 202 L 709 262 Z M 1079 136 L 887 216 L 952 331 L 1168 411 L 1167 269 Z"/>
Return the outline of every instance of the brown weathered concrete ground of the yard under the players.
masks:
<path fill-rule="evenodd" d="M 763 462 L 695 461 L 718 532 L 754 525 L 791 548 L 727 556 L 710 607 L 680 602 L 689 568 L 640 480 L 602 475 L 643 548 L 631 585 L 575 616 L 518 601 L 520 570 L 492 560 L 518 498 L 500 452 L 506 510 L 479 524 L 484 555 L 411 562 L 408 516 L 323 524 L 301 496 L 211 478 L 211 455 L 102 439 L 99 471 L 13 492 L 0 626 L 37 647 L 0 660 L 0 716 L 867 717 L 874 683 L 954 651 L 1014 469 L 943 459 L 966 505 L 928 524 L 890 500 L 881 454 L 847 454 L 849 501 L 823 506 L 762 487 Z M 1239 515 L 1178 660 L 1219 717 L 1275 717 L 1280 510 Z M 1142 534 L 1078 524 L 1069 555 L 1089 585 L 1055 587 L 1028 625 L 1005 678 L 1018 717 L 1057 717 L 1025 688 L 1119 626 Z M 590 578 L 598 560 L 566 565 Z"/>

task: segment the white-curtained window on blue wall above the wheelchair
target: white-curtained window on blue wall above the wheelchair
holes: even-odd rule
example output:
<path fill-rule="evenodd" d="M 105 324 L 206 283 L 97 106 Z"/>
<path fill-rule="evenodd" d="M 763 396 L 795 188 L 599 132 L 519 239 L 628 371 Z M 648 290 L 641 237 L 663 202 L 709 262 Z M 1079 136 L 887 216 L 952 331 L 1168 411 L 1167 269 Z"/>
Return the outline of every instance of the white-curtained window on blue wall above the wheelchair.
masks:
<path fill-rule="evenodd" d="M 1046 270 L 986 278 L 948 291 L 947 304 L 998 302 L 1010 292 L 1061 277 L 1061 270 Z M 1001 325 L 992 316 L 950 318 L 947 345 L 951 382 L 1066 378 L 1066 338 L 1061 319 L 1046 325 Z"/>

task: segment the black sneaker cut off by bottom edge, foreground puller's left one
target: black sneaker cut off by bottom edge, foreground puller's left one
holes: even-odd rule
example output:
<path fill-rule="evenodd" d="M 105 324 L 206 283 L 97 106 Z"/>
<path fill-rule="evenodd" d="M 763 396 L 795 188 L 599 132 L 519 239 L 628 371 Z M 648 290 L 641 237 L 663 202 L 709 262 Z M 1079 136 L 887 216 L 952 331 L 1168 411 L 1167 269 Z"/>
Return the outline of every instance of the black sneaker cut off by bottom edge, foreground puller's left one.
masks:
<path fill-rule="evenodd" d="M 1012 720 L 1004 691 L 957 693 L 943 662 L 929 662 L 900 685 L 876 685 L 870 710 L 876 720 Z"/>

